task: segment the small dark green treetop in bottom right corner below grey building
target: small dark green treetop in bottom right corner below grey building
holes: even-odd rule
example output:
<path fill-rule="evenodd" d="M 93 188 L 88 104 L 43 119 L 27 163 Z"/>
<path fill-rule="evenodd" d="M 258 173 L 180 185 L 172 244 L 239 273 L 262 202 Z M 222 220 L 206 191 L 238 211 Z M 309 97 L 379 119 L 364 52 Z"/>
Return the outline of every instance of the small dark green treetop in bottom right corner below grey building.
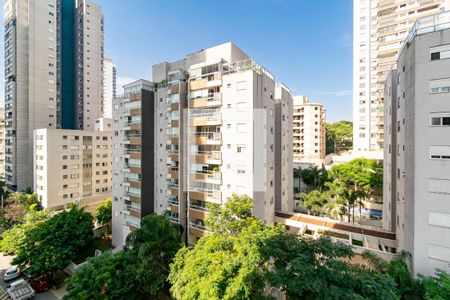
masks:
<path fill-rule="evenodd" d="M 436 270 L 436 276 L 418 275 L 419 282 L 424 289 L 426 300 L 450 299 L 450 275 L 443 270 Z"/>

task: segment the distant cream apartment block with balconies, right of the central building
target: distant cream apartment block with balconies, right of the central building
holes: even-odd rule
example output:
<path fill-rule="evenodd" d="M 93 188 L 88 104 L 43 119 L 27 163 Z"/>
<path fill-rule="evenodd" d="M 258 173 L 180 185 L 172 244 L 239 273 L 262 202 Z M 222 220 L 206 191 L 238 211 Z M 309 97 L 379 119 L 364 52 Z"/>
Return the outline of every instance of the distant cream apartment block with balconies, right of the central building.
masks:
<path fill-rule="evenodd" d="M 325 108 L 310 103 L 305 96 L 294 96 L 294 162 L 322 165 L 325 158 Z"/>

